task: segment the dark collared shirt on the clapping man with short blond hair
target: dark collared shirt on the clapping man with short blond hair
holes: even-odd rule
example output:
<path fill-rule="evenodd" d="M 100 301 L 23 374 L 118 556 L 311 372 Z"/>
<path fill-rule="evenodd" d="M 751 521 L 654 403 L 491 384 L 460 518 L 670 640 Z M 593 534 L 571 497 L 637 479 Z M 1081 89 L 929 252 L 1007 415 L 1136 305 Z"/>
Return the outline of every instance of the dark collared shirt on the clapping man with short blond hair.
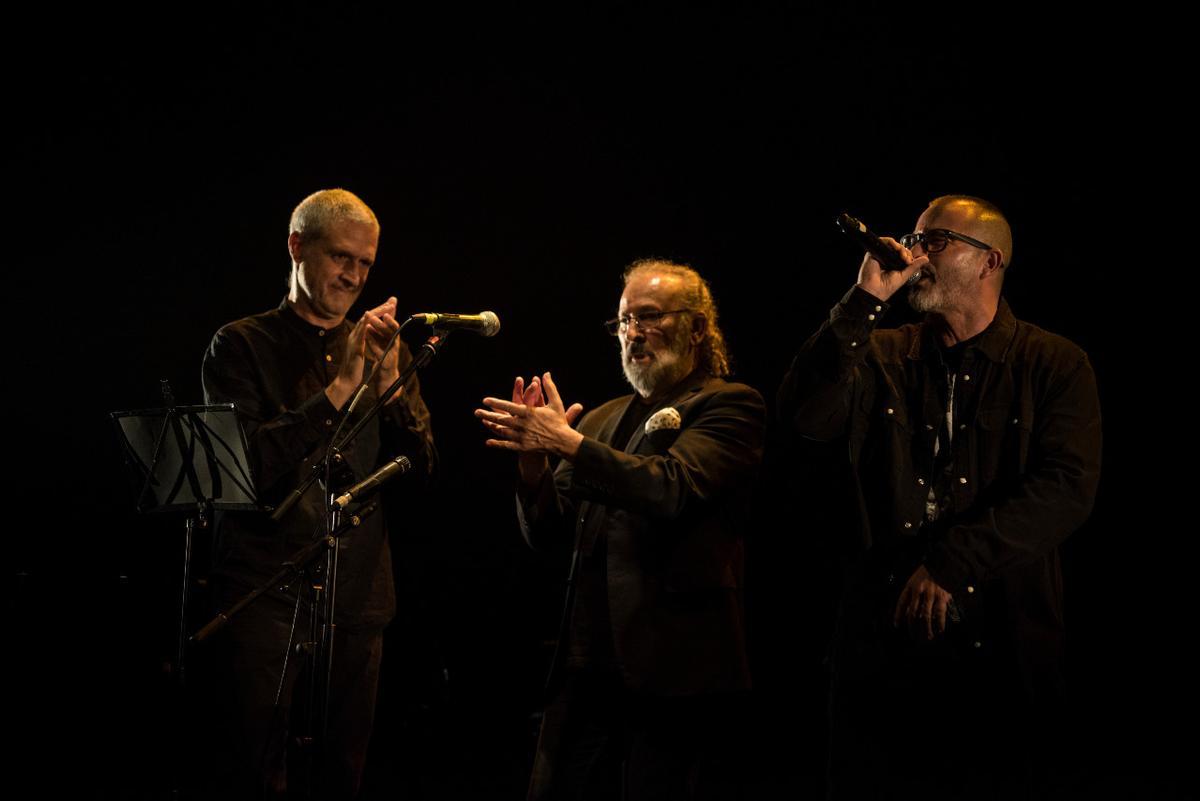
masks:
<path fill-rule="evenodd" d="M 251 469 L 259 501 L 277 506 L 319 462 L 338 423 L 325 396 L 337 375 L 349 321 L 324 330 L 302 320 L 284 300 L 277 309 L 223 326 L 204 355 L 206 403 L 234 403 L 250 442 Z M 403 342 L 401 369 L 412 361 Z M 377 395 L 370 389 L 344 428 L 367 411 Z M 372 420 L 343 457 L 353 480 L 368 475 L 388 459 L 404 454 L 413 474 L 386 487 L 395 496 L 420 483 L 432 471 L 436 452 L 430 412 L 414 375 L 400 398 Z M 336 481 L 335 481 L 336 484 Z M 314 486 L 280 523 L 265 513 L 230 512 L 217 520 L 214 578 L 227 598 L 264 582 L 280 565 L 324 531 L 322 489 Z M 295 588 L 290 590 L 294 597 Z M 396 608 L 391 553 L 382 511 L 341 538 L 336 619 L 340 625 L 382 626 Z"/>

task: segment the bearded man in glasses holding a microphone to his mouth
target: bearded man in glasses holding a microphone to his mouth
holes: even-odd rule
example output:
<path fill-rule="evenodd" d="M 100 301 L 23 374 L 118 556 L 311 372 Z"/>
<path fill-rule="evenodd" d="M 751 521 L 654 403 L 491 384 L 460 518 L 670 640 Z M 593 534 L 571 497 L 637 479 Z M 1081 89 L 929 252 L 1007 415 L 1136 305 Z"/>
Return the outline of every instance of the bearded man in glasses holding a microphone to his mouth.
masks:
<path fill-rule="evenodd" d="M 857 499 L 830 797 L 1030 797 L 1063 760 L 1058 546 L 1096 495 L 1096 377 L 1076 345 L 1013 317 L 1013 237 L 992 204 L 937 198 L 884 241 L 907 266 L 864 258 L 779 391 L 791 445 Z M 877 329 L 906 285 L 924 321 Z"/>

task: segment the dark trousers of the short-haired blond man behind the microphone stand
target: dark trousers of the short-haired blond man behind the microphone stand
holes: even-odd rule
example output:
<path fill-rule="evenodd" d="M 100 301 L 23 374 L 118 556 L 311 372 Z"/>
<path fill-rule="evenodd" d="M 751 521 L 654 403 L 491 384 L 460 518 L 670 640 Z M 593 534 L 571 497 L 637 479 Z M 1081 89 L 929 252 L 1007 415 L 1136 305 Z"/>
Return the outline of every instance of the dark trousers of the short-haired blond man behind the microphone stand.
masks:
<path fill-rule="evenodd" d="M 322 742 L 318 733 L 316 749 L 305 753 L 294 736 L 289 741 L 289 731 L 295 735 L 307 718 L 310 681 L 296 645 L 308 639 L 308 613 L 300 610 L 288 654 L 293 612 L 276 598 L 259 598 L 221 633 L 218 731 L 226 742 L 218 748 L 216 797 L 284 799 L 289 791 L 298 797 L 306 787 L 319 799 L 358 794 L 374 721 L 383 631 L 336 628 L 328 735 Z"/>

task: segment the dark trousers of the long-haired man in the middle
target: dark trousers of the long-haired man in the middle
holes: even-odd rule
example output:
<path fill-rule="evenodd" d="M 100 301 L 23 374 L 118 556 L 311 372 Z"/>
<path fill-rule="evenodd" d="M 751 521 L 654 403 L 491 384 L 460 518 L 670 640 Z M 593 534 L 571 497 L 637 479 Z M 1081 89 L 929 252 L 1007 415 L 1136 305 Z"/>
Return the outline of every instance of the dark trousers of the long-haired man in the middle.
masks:
<path fill-rule="evenodd" d="M 664 698 L 569 671 L 546 707 L 530 801 L 739 799 L 745 695 Z"/>

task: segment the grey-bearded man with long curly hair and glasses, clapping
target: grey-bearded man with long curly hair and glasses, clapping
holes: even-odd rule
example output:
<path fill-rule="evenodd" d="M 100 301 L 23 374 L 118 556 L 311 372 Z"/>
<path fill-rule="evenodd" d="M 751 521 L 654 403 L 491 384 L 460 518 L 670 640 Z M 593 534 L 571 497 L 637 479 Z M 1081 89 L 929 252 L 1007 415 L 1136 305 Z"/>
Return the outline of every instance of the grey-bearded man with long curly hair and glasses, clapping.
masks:
<path fill-rule="evenodd" d="M 690 267 L 631 265 L 607 327 L 634 395 L 580 417 L 546 373 L 475 412 L 518 457 L 526 540 L 571 564 L 529 797 L 737 797 L 762 397 L 724 379 L 716 305 Z"/>

